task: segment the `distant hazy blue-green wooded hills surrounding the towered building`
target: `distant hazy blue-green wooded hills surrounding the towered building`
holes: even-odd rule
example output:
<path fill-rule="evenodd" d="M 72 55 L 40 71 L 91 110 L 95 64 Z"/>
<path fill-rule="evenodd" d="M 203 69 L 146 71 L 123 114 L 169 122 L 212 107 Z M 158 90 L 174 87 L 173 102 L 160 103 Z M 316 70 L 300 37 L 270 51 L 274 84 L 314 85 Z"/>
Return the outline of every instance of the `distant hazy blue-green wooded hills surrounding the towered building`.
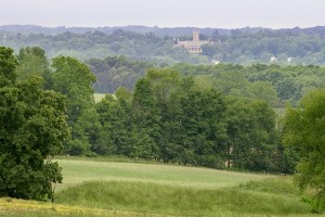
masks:
<path fill-rule="evenodd" d="M 62 28 L 65 29 L 65 28 Z M 9 29 L 10 30 L 10 29 Z M 26 30 L 28 33 L 28 30 Z M 162 33 L 165 35 L 162 35 Z M 113 28 L 109 30 L 66 29 L 54 35 L 0 31 L 0 44 L 14 48 L 38 46 L 49 56 L 69 55 L 79 60 L 107 55 L 128 58 L 156 63 L 179 62 L 276 63 L 280 65 L 324 65 L 324 28 L 292 29 L 202 29 L 200 38 L 210 40 L 203 46 L 203 53 L 190 54 L 185 49 L 174 49 L 177 38 L 191 39 L 192 28 L 157 30 L 141 27 Z"/>

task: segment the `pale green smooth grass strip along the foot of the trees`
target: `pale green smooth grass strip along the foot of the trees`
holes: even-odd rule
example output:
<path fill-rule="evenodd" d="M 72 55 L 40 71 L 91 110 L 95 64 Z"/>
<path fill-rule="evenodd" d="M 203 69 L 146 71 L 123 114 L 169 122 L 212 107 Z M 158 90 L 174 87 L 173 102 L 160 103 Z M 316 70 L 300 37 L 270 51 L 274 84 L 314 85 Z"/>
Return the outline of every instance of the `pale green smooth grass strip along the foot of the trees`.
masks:
<path fill-rule="evenodd" d="M 58 190 L 68 186 L 92 180 L 136 181 L 177 187 L 214 189 L 273 177 L 268 175 L 231 173 L 173 165 L 91 162 L 82 159 L 56 161 L 63 168 L 64 177 L 63 183 L 58 184 Z"/>

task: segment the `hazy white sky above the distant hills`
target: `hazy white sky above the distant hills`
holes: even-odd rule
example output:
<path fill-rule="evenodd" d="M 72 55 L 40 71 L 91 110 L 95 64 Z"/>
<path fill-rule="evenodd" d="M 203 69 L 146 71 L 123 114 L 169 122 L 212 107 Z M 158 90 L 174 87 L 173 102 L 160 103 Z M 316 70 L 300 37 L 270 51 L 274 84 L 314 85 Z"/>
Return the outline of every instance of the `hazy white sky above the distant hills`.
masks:
<path fill-rule="evenodd" d="M 325 0 L 0 0 L 0 25 L 325 26 Z"/>

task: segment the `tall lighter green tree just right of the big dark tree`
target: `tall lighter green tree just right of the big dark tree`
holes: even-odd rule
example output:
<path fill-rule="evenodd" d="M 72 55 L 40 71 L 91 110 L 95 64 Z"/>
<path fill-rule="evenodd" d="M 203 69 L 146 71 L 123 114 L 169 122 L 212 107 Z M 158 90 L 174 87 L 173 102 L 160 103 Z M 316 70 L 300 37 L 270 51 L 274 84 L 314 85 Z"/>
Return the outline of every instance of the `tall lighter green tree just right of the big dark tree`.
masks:
<path fill-rule="evenodd" d="M 95 76 L 87 65 L 73 58 L 55 58 L 52 67 L 51 89 L 67 97 L 68 125 L 73 129 L 65 150 L 70 154 L 86 154 L 95 142 L 90 131 L 100 126 L 98 115 L 92 115 L 91 120 L 88 116 L 95 111 L 92 88 Z"/>

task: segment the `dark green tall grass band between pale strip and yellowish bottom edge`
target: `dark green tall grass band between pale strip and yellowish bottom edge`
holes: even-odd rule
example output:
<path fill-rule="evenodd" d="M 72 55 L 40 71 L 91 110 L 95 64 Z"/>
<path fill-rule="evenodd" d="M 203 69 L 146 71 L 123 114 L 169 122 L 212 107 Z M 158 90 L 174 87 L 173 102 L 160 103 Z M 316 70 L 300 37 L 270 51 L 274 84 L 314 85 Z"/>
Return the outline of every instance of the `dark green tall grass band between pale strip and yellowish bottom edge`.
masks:
<path fill-rule="evenodd" d="M 297 196 L 240 188 L 197 189 L 125 181 L 90 181 L 60 191 L 56 202 L 172 216 L 309 215 Z M 231 215 L 232 214 L 232 215 Z"/>

